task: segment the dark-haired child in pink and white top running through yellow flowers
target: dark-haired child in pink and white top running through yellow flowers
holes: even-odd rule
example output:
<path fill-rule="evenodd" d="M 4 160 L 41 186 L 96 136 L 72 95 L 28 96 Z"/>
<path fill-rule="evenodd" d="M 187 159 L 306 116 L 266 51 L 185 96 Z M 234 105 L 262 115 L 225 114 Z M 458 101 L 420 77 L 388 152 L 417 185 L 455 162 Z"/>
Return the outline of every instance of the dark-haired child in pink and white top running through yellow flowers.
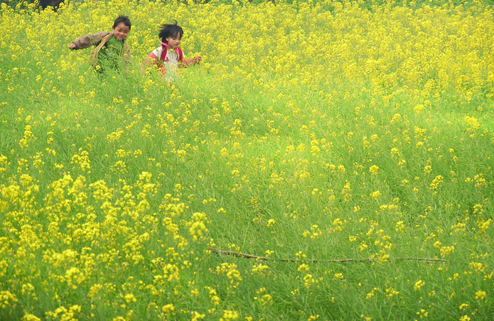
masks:
<path fill-rule="evenodd" d="M 161 25 L 158 34 L 161 39 L 161 47 L 154 49 L 146 58 L 145 63 L 156 65 L 163 75 L 174 73 L 177 67 L 186 68 L 198 64 L 202 59 L 200 55 L 189 60 L 183 59 L 183 51 L 178 47 L 182 36 L 183 29 L 177 25 L 176 21 L 173 25 Z M 168 77 L 171 75 L 169 74 Z"/>

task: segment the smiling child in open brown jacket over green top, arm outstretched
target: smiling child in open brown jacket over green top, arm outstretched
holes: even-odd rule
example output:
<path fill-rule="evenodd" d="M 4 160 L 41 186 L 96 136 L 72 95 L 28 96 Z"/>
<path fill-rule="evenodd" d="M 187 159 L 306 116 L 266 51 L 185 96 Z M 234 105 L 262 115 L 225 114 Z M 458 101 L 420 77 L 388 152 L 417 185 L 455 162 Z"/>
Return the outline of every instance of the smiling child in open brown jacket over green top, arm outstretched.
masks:
<path fill-rule="evenodd" d="M 126 42 L 130 26 L 128 16 L 119 16 L 115 19 L 111 32 L 100 31 L 79 37 L 69 44 L 69 48 L 84 49 L 94 45 L 95 49 L 91 51 L 91 66 L 99 72 L 106 68 L 118 70 L 122 59 L 126 64 L 130 63 L 130 50 Z"/>

